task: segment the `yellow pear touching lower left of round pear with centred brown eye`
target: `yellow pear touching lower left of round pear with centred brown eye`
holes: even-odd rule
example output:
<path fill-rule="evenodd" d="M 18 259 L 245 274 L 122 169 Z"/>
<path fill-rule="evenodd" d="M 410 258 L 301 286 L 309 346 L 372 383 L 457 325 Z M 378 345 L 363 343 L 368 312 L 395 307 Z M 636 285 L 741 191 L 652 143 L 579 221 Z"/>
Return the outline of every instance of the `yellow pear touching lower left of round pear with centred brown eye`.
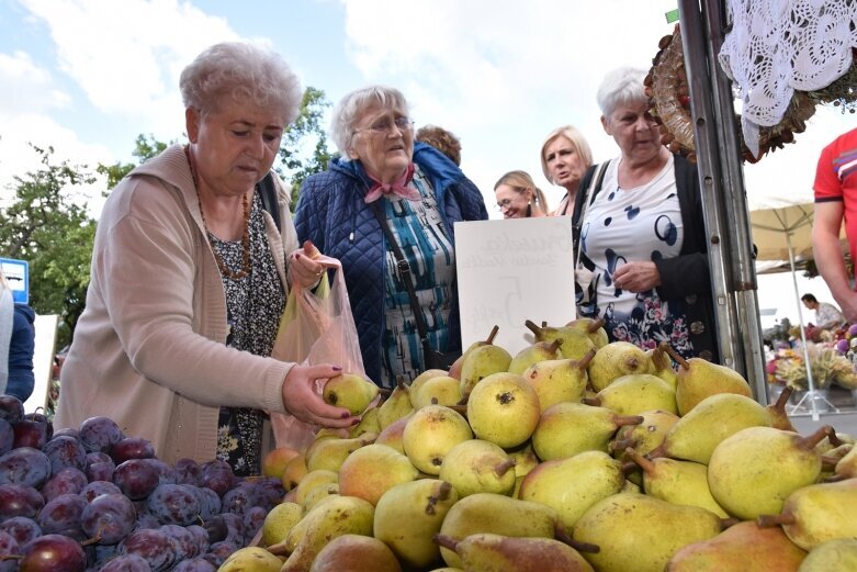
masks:
<path fill-rule="evenodd" d="M 472 438 L 467 419 L 460 413 L 443 405 L 427 405 L 408 419 L 402 445 L 414 467 L 437 476 L 450 449 Z"/>

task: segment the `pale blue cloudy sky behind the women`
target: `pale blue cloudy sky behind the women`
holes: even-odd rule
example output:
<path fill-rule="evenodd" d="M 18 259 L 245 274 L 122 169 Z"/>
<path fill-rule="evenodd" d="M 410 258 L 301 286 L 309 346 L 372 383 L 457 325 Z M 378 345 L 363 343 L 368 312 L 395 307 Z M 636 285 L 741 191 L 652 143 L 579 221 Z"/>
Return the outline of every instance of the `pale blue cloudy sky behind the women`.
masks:
<path fill-rule="evenodd" d="M 140 133 L 180 138 L 178 76 L 225 40 L 268 43 L 305 86 L 337 101 L 351 89 L 403 90 L 417 125 L 461 138 L 462 168 L 494 204 L 494 182 L 523 169 L 551 204 L 544 135 L 572 123 L 596 160 L 617 148 L 595 93 L 614 67 L 649 68 L 675 0 L 0 0 L 0 200 L 37 165 L 131 160 Z M 812 200 L 815 159 L 857 115 L 819 109 L 797 143 L 745 166 L 752 208 Z M 100 188 L 91 190 L 98 197 Z M 93 200 L 94 212 L 99 200 Z M 490 209 L 493 216 L 499 216 Z"/>

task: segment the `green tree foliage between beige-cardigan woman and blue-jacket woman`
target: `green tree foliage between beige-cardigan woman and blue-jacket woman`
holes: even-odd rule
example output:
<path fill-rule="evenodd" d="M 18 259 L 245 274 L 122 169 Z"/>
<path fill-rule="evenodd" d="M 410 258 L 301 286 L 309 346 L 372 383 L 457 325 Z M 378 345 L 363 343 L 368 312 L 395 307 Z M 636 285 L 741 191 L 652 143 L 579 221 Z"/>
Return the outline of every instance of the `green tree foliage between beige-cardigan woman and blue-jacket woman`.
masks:
<path fill-rule="evenodd" d="M 283 166 L 280 175 L 292 186 L 292 211 L 297 205 L 297 191 L 313 173 L 327 169 L 331 154 L 327 147 L 327 134 L 322 124 L 330 102 L 320 89 L 307 87 L 301 102 L 301 113 L 289 125 L 280 144 Z"/>

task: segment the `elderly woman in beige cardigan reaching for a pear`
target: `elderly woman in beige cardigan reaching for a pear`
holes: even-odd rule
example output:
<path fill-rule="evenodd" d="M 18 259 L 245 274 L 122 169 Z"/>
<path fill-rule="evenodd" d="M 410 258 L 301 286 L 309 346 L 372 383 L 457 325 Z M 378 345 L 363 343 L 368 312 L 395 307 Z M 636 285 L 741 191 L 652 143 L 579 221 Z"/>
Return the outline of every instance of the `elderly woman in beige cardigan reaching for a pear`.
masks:
<path fill-rule="evenodd" d="M 243 43 L 206 49 L 180 85 L 190 143 L 139 166 L 108 199 L 55 424 L 104 415 L 168 462 L 216 456 L 258 474 L 263 411 L 357 423 L 314 391 L 338 367 L 269 357 L 290 283 L 323 272 L 298 248 L 279 178 L 268 195 L 257 184 L 301 90 L 278 55 Z"/>

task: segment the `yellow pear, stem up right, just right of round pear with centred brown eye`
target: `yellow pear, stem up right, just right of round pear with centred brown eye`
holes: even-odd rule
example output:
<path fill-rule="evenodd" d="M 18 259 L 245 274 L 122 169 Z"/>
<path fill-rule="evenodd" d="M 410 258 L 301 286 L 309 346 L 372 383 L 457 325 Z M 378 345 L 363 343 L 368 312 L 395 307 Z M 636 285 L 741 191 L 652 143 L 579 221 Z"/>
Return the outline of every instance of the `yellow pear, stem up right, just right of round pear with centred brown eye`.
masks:
<path fill-rule="evenodd" d="M 589 378 L 586 368 L 595 357 L 595 349 L 583 359 L 551 359 L 539 361 L 521 374 L 539 395 L 542 411 L 564 401 L 578 402 L 586 391 Z"/>

